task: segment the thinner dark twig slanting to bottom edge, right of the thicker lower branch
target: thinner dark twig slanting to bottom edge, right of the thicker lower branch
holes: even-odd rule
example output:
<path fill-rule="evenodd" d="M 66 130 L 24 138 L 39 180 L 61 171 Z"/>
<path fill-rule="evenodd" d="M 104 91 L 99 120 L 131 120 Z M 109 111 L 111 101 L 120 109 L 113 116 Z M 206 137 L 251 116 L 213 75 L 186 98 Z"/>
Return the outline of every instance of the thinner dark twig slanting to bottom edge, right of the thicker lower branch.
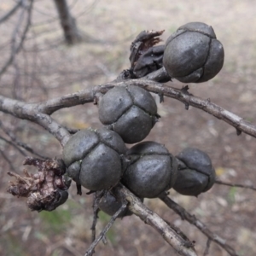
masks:
<path fill-rule="evenodd" d="M 239 256 L 236 251 L 230 247 L 224 240 L 224 238 L 214 234 L 211 230 L 207 228 L 205 224 L 203 224 L 199 219 L 195 218 L 194 215 L 191 215 L 187 212 L 183 207 L 179 206 L 175 201 L 172 201 L 166 193 L 162 193 L 159 196 L 160 200 L 163 201 L 167 207 L 171 208 L 174 212 L 176 212 L 182 219 L 187 220 L 190 224 L 193 224 L 198 230 L 206 235 L 210 240 L 215 241 L 220 247 L 223 247 L 224 250 L 229 253 L 231 256 Z"/>

